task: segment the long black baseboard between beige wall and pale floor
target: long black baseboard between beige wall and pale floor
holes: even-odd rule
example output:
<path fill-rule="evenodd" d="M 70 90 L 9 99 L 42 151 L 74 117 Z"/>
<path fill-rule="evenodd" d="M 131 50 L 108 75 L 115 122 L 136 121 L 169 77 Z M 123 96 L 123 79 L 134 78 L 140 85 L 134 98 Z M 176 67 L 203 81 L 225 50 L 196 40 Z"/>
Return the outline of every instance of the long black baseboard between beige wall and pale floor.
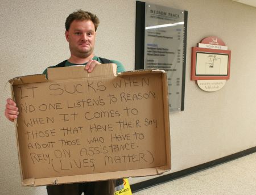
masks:
<path fill-rule="evenodd" d="M 168 181 L 179 179 L 180 177 L 184 177 L 184 176 L 187 176 L 187 175 L 191 175 L 192 173 L 203 171 L 204 169 L 208 169 L 208 168 L 217 166 L 219 164 L 226 163 L 226 162 L 229 162 L 229 161 L 237 159 L 237 158 L 241 158 L 243 156 L 252 154 L 254 152 L 256 152 L 256 146 L 251 147 L 250 149 L 247 149 L 247 150 L 237 152 L 237 153 L 232 154 L 232 155 L 228 155 L 228 156 L 216 159 L 216 160 L 212 160 L 208 163 L 199 164 L 198 166 L 195 166 L 195 167 L 190 167 L 190 168 L 187 168 L 187 169 L 183 169 L 181 171 L 177 171 L 177 172 L 170 173 L 170 174 L 167 174 L 167 175 L 159 176 L 159 177 L 156 177 L 154 179 L 150 179 L 150 180 L 142 181 L 142 182 L 139 182 L 139 183 L 136 183 L 136 184 L 132 184 L 131 185 L 131 192 L 138 192 L 140 190 L 150 188 L 150 187 L 155 186 L 155 185 L 159 185 L 159 184 L 166 183 Z"/>

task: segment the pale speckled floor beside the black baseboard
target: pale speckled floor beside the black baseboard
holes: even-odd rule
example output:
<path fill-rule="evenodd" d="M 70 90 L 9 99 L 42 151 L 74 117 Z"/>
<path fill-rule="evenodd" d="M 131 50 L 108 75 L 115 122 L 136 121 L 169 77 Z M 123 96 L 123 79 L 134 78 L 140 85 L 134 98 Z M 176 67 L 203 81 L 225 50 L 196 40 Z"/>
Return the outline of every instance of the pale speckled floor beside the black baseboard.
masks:
<path fill-rule="evenodd" d="M 256 195 L 256 152 L 134 195 Z"/>

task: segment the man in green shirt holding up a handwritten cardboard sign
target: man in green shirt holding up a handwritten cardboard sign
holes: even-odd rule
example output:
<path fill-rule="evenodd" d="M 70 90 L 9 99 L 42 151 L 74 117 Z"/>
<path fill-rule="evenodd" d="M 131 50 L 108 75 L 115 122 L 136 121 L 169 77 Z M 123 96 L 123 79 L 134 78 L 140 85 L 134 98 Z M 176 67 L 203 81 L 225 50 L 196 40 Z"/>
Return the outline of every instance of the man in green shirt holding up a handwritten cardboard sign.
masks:
<path fill-rule="evenodd" d="M 85 65 L 85 71 L 90 73 L 93 71 L 96 65 L 100 65 L 104 61 L 107 61 L 116 63 L 118 72 L 124 71 L 125 69 L 120 62 L 113 60 L 109 61 L 104 58 L 94 56 L 93 50 L 96 39 L 96 30 L 99 23 L 100 21 L 97 16 L 90 12 L 78 10 L 70 14 L 65 22 L 65 37 L 69 43 L 71 57 L 56 66 L 51 66 L 51 68 L 60 66 Z M 47 69 L 44 70 L 44 74 L 47 74 Z M 6 101 L 5 116 L 10 121 L 14 121 L 19 115 L 18 107 L 16 107 L 16 103 L 13 100 L 7 99 Z M 49 185 L 47 186 L 47 192 L 49 195 L 80 195 L 82 192 L 84 192 L 86 195 L 113 195 L 115 186 L 119 186 L 121 184 L 122 179 L 81 184 Z"/>

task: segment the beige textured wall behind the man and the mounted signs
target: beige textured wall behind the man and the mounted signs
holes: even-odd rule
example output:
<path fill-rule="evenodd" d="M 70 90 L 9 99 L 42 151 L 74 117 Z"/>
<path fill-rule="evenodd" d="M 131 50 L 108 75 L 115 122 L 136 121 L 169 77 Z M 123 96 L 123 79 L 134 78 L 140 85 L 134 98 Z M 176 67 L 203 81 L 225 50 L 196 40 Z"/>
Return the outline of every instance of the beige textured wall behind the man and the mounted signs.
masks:
<path fill-rule="evenodd" d="M 256 146 L 256 8 L 231 0 L 146 1 L 188 11 L 185 111 L 171 113 L 172 170 Z M 84 9 L 98 15 L 96 54 L 134 68 L 135 1 L 7 1 L 0 6 L 1 194 L 46 194 L 45 187 L 20 186 L 14 125 L 3 115 L 10 97 L 7 80 L 39 74 L 69 57 L 64 22 Z M 190 80 L 191 47 L 218 36 L 232 50 L 230 80 L 217 92 L 201 91 Z M 170 173 L 170 172 L 167 172 Z M 152 177 L 130 179 L 131 183 Z"/>

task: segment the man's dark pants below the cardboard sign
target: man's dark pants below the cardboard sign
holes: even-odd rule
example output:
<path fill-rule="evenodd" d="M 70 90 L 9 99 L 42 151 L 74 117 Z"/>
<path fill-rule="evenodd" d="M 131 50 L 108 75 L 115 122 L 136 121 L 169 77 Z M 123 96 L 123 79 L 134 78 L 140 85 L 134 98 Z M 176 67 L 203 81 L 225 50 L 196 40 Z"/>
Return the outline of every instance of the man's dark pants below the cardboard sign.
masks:
<path fill-rule="evenodd" d="M 113 195 L 115 180 L 96 181 L 76 184 L 48 185 L 48 195 Z"/>

